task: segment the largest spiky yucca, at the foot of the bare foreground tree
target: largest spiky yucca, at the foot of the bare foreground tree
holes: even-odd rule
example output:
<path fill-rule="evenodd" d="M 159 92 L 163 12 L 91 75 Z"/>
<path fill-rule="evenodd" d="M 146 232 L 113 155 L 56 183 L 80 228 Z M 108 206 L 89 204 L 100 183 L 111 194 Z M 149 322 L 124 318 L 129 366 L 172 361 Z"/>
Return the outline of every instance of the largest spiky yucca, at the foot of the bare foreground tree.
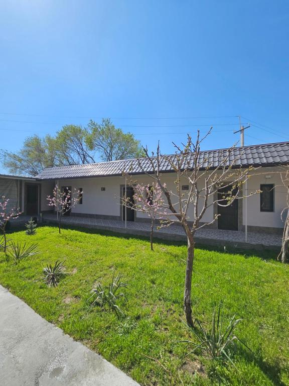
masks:
<path fill-rule="evenodd" d="M 234 315 L 230 319 L 227 327 L 223 328 L 223 316 L 221 313 L 221 308 L 221 303 L 219 305 L 218 312 L 216 312 L 216 309 L 214 308 L 212 326 L 209 331 L 206 331 L 204 325 L 197 319 L 196 328 L 189 327 L 190 331 L 195 336 L 197 343 L 190 340 L 179 342 L 186 342 L 193 345 L 194 349 L 191 350 L 188 354 L 191 354 L 197 349 L 200 349 L 203 354 L 210 359 L 221 361 L 229 360 L 234 365 L 230 356 L 230 347 L 232 347 L 232 345 L 238 341 L 246 348 L 248 348 L 246 344 L 235 335 L 236 327 L 242 321 L 242 319 L 236 319 L 236 316 Z"/>

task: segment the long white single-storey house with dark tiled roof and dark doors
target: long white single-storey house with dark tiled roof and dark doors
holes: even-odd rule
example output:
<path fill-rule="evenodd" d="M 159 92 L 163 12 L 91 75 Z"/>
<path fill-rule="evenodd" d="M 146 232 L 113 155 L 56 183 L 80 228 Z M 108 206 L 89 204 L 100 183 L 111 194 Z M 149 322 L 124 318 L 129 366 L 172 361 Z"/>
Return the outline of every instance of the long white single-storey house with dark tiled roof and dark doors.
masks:
<path fill-rule="evenodd" d="M 202 151 L 202 169 L 209 163 L 212 167 L 216 166 L 219 157 L 226 151 L 227 149 Z M 209 223 L 218 213 L 221 216 L 210 225 L 211 228 L 242 231 L 246 226 L 248 231 L 282 232 L 281 212 L 286 207 L 286 191 L 281 184 L 280 172 L 284 165 L 289 164 L 289 142 L 236 147 L 232 157 L 238 156 L 240 158 L 236 168 L 258 167 L 247 182 L 247 193 L 260 189 L 262 194 L 249 197 L 246 205 L 245 200 L 235 200 L 227 208 L 211 206 L 203 221 Z M 152 172 L 146 158 L 139 161 L 147 173 Z M 188 162 L 190 163 L 190 159 Z M 15 200 L 20 203 L 24 214 L 39 215 L 51 210 L 46 198 L 51 195 L 55 184 L 58 184 L 62 188 L 82 191 L 82 199 L 67 215 L 124 221 L 126 210 L 127 221 L 148 221 L 146 214 L 120 205 L 127 182 L 123 176 L 124 171 L 133 175 L 137 182 L 150 183 L 150 177 L 143 173 L 142 168 L 136 159 L 129 159 L 47 168 L 35 178 L 0 175 L 0 194 L 12 191 L 8 186 L 13 185 L 13 197 L 17 197 Z M 175 172 L 164 158 L 160 171 L 167 186 L 174 190 Z M 186 183 L 184 180 L 184 193 Z M 126 192 L 128 197 L 132 197 L 133 187 L 126 186 Z M 190 208 L 188 215 L 193 218 L 193 208 Z"/>

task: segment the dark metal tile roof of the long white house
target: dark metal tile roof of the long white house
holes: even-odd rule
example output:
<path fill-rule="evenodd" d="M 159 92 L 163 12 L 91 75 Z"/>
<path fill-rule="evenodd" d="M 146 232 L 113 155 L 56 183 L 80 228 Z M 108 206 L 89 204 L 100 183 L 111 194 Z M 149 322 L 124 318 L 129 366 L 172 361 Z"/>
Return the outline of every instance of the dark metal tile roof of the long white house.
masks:
<path fill-rule="evenodd" d="M 202 151 L 200 153 L 200 163 L 202 169 L 210 166 L 214 168 L 218 166 L 220 160 L 228 154 L 229 149 L 218 149 Z M 168 157 L 174 161 L 176 155 L 163 156 L 161 159 L 161 172 L 173 171 Z M 263 145 L 253 145 L 244 147 L 235 147 L 228 159 L 228 165 L 235 158 L 238 161 L 235 167 L 248 166 L 276 166 L 289 164 L 289 142 L 266 143 Z M 186 165 L 184 167 L 193 167 L 193 157 L 188 155 Z M 147 172 L 153 172 L 152 166 L 147 158 L 127 159 L 110 162 L 90 163 L 86 165 L 71 165 L 61 167 L 51 167 L 44 169 L 37 179 L 57 179 L 57 178 L 77 178 L 77 177 L 103 177 L 109 175 L 122 175 L 125 171 L 129 174 L 142 174 L 142 168 Z"/>

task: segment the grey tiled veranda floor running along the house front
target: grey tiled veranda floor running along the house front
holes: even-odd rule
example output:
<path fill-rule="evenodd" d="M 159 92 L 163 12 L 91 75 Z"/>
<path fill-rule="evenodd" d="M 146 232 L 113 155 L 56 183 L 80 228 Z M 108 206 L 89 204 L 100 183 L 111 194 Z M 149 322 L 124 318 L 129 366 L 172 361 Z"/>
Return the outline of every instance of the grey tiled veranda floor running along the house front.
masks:
<path fill-rule="evenodd" d="M 56 222 L 56 215 L 45 214 L 44 221 Z M 97 228 L 111 230 L 115 232 L 136 234 L 142 236 L 150 235 L 150 224 L 141 222 L 127 222 L 125 229 L 124 221 L 102 220 L 89 217 L 66 216 L 61 222 L 63 224 L 82 226 L 88 228 Z M 171 225 L 155 231 L 155 237 L 169 240 L 185 240 L 185 233 L 182 227 Z M 278 248 L 281 246 L 282 236 L 277 234 L 248 232 L 247 242 L 245 242 L 245 233 L 237 231 L 223 231 L 217 229 L 202 228 L 196 233 L 196 241 L 199 243 L 233 246 L 240 248 L 262 249 L 267 247 Z"/>

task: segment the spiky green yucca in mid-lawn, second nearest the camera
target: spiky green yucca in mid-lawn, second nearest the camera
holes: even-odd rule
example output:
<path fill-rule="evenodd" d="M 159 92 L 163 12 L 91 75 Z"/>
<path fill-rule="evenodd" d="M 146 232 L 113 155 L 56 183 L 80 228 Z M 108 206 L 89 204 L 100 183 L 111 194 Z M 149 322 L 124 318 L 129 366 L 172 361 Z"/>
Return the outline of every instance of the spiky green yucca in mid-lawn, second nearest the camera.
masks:
<path fill-rule="evenodd" d="M 95 288 L 92 288 L 92 295 L 88 300 L 93 299 L 90 307 L 96 305 L 100 307 L 108 306 L 115 311 L 117 315 L 123 316 L 123 312 L 116 303 L 118 299 L 124 297 L 120 289 L 123 287 L 126 288 L 128 285 L 121 281 L 122 275 L 120 273 L 116 277 L 114 277 L 114 275 L 115 272 L 113 272 L 111 282 L 106 286 L 101 286 L 100 283 L 97 283 Z"/>

